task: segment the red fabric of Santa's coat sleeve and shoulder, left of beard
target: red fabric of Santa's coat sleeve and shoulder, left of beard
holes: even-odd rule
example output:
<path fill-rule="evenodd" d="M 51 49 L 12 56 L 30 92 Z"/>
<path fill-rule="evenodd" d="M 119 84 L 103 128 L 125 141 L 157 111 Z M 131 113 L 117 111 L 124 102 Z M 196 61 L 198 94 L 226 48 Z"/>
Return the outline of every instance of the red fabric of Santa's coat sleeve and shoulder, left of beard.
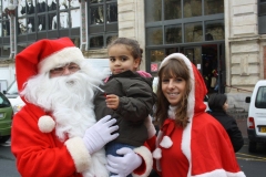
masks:
<path fill-rule="evenodd" d="M 17 158 L 20 175 L 81 176 L 75 173 L 72 157 L 63 143 L 54 136 L 54 132 L 49 134 L 40 132 L 38 119 L 42 115 L 45 114 L 41 108 L 27 104 L 13 118 L 11 150 Z"/>

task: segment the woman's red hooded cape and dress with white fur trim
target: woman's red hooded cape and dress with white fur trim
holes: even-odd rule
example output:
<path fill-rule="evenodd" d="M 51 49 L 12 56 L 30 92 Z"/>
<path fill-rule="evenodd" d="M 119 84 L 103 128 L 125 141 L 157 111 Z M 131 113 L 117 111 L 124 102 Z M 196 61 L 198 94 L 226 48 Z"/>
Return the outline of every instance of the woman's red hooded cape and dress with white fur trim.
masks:
<path fill-rule="evenodd" d="M 184 60 L 190 70 L 190 123 L 185 128 L 177 126 L 174 122 L 176 107 L 170 106 L 168 118 L 157 138 L 147 140 L 155 158 L 154 168 L 163 177 L 245 177 L 227 133 L 215 118 L 205 113 L 203 98 L 206 87 L 195 65 L 185 55 L 174 53 L 163 60 L 160 69 L 173 58 Z"/>

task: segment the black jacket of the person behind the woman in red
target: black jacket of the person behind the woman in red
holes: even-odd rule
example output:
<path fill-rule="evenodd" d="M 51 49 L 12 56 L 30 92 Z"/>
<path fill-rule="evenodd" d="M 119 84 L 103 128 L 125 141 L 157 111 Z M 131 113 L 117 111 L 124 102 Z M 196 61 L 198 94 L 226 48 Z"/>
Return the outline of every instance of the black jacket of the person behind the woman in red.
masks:
<path fill-rule="evenodd" d="M 244 145 L 244 139 L 235 118 L 226 114 L 224 111 L 213 111 L 208 113 L 224 126 L 229 135 L 235 153 L 238 152 Z"/>

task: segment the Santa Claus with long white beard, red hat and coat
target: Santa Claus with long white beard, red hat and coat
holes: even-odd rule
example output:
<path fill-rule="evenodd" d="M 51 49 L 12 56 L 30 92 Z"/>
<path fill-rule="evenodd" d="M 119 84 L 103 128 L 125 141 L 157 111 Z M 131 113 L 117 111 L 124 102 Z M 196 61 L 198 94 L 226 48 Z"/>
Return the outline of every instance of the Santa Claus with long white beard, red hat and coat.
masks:
<path fill-rule="evenodd" d="M 40 40 L 16 58 L 25 106 L 12 124 L 11 150 L 21 176 L 106 177 L 103 146 L 115 119 L 95 122 L 93 96 L 106 76 L 68 38 Z"/>

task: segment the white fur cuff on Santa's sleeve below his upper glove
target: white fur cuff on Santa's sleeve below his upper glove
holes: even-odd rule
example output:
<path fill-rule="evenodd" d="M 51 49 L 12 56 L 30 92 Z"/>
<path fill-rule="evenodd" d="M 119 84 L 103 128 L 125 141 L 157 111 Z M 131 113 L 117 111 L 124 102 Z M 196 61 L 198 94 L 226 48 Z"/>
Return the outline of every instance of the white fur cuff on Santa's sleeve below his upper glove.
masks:
<path fill-rule="evenodd" d="M 68 139 L 64 145 L 66 146 L 71 157 L 74 160 L 78 173 L 82 173 L 91 166 L 91 155 L 85 148 L 81 137 L 73 137 Z"/>

